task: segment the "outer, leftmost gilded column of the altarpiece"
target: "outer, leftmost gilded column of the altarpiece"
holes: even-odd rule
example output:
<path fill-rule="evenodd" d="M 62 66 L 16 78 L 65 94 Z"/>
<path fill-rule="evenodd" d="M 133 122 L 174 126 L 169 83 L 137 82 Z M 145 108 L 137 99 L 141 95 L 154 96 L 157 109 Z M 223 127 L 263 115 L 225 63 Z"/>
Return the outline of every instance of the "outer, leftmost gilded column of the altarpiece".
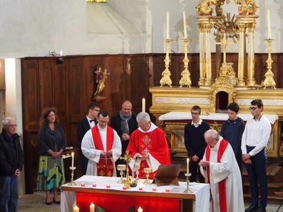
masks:
<path fill-rule="evenodd" d="M 199 86 L 204 85 L 204 63 L 204 27 L 202 26 L 202 23 L 199 23 Z"/>

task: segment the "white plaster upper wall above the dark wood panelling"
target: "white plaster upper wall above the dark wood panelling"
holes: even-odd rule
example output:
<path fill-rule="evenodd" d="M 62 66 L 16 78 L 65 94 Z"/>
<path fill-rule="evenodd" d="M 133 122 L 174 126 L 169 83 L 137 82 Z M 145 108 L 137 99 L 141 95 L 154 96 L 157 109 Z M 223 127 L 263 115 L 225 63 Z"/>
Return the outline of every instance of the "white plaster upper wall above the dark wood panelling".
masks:
<path fill-rule="evenodd" d="M 199 52 L 195 6 L 199 0 L 1 0 L 0 57 L 46 56 L 49 50 L 70 54 L 126 54 L 164 52 L 164 23 L 170 12 L 171 47 L 179 52 L 182 11 L 188 17 L 190 52 Z M 266 52 L 265 9 L 271 10 L 273 52 L 283 52 L 282 0 L 257 0 L 255 52 Z M 224 12 L 237 13 L 233 0 Z M 212 45 L 212 50 L 214 51 Z M 237 52 L 230 45 L 228 52 Z"/>

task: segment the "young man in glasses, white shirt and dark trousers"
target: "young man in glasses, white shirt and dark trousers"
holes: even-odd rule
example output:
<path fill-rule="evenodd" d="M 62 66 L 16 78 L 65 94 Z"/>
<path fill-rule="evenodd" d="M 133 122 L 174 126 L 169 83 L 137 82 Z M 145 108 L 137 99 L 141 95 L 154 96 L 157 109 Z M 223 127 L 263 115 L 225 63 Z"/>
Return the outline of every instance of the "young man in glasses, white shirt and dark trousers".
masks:
<path fill-rule="evenodd" d="M 267 177 L 266 177 L 266 145 L 271 134 L 271 123 L 262 114 L 263 103 L 260 99 L 251 101 L 253 118 L 246 122 L 242 136 L 242 159 L 248 171 L 248 180 L 251 187 L 251 206 L 249 211 L 266 211 L 267 204 Z M 260 184 L 260 200 L 258 198 L 257 183 Z M 260 205 L 259 205 L 260 203 Z"/>

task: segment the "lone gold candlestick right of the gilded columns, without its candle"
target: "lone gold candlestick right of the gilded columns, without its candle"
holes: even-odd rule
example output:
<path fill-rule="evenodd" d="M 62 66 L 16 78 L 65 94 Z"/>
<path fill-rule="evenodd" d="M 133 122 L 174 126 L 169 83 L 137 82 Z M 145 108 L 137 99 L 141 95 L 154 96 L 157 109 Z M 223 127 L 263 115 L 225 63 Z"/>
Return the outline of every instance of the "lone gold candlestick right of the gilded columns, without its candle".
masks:
<path fill-rule="evenodd" d="M 274 74 L 272 72 L 272 63 L 273 63 L 273 60 L 271 59 L 271 43 L 273 41 L 275 41 L 274 39 L 265 39 L 264 41 L 267 42 L 267 50 L 269 52 L 269 58 L 266 60 L 266 63 L 267 63 L 267 72 L 264 74 L 265 76 L 265 79 L 264 81 L 262 82 L 262 86 L 264 88 L 266 87 L 270 87 L 270 88 L 273 88 L 273 89 L 276 89 L 276 83 L 274 81 Z"/>

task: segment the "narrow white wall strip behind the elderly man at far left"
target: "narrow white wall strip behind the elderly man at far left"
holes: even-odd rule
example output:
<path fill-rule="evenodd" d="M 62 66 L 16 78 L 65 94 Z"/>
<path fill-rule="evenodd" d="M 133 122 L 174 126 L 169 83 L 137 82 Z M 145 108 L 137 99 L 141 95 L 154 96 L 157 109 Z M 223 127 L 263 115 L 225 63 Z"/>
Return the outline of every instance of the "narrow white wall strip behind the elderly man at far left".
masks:
<path fill-rule="evenodd" d="M 23 114 L 21 103 L 21 60 L 5 59 L 6 81 L 6 116 L 13 117 L 17 122 L 17 133 L 21 136 L 23 147 Z M 19 195 L 25 193 L 24 170 L 19 177 Z"/>

